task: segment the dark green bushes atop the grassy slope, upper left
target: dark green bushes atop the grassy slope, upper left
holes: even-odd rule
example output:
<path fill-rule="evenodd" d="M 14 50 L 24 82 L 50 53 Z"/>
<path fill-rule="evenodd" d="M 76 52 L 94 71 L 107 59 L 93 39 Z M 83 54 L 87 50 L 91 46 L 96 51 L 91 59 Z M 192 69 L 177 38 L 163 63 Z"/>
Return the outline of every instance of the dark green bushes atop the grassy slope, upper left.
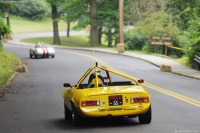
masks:
<path fill-rule="evenodd" d="M 20 0 L 15 3 L 11 13 L 33 20 L 42 20 L 50 13 L 50 7 L 44 0 Z"/>

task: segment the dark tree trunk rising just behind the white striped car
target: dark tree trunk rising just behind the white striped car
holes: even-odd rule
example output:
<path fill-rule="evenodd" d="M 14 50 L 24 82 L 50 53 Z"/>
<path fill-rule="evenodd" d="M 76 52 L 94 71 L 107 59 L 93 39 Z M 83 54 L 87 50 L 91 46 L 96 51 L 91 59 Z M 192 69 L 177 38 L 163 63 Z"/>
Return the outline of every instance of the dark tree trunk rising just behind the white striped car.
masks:
<path fill-rule="evenodd" d="M 53 20 L 53 44 L 60 44 L 59 30 L 58 30 L 58 10 L 57 6 L 51 3 L 51 13 Z"/>

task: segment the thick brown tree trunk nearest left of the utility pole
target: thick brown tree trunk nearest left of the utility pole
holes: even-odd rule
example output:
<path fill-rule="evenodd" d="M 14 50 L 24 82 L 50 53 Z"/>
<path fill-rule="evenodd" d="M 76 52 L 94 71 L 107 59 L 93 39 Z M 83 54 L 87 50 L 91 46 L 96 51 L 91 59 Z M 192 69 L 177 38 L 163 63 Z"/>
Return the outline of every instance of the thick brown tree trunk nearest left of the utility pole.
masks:
<path fill-rule="evenodd" d="M 98 43 L 98 28 L 96 26 L 96 20 L 95 20 L 95 15 L 96 15 L 96 0 L 90 0 L 90 39 L 91 39 L 91 46 L 95 47 L 97 46 Z"/>

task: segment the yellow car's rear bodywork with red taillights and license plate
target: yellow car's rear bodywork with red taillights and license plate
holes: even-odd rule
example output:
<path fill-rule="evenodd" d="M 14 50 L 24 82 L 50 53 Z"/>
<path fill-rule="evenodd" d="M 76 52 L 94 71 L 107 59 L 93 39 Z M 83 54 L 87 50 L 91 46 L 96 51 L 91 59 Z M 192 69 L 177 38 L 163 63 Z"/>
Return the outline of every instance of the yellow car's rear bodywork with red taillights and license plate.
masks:
<path fill-rule="evenodd" d="M 151 111 L 150 95 L 139 86 L 119 87 L 118 91 L 117 87 L 100 87 L 86 89 L 85 93 L 89 95 L 79 103 L 79 112 L 84 117 L 140 117 Z M 140 123 L 150 122 L 140 120 Z"/>

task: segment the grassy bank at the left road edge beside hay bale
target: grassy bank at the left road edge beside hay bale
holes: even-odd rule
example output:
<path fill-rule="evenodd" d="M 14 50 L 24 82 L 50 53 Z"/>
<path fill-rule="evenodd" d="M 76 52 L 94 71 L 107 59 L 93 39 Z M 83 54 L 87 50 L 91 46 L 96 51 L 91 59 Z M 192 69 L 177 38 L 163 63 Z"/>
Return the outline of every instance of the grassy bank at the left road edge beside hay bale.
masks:
<path fill-rule="evenodd" d="M 0 88 L 15 73 L 19 58 L 6 50 L 0 51 Z"/>

